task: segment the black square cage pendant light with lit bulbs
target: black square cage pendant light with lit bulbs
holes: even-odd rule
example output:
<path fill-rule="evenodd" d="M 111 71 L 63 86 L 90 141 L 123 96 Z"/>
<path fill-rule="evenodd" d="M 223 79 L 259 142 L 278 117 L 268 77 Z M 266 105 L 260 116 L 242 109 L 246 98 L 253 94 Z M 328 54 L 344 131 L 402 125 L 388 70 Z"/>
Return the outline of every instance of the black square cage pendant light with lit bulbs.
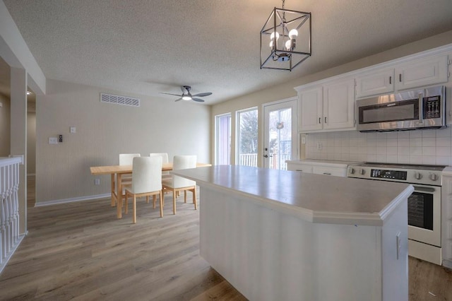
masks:
<path fill-rule="evenodd" d="M 273 8 L 261 30 L 261 69 L 292 71 L 311 57 L 311 13 Z"/>

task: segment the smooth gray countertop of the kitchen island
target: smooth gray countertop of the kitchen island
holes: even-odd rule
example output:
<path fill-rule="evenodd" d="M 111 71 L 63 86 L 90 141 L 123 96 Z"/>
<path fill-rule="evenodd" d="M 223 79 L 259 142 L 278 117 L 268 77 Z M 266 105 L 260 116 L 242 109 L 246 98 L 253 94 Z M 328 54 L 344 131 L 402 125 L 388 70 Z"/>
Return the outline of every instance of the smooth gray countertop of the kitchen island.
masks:
<path fill-rule="evenodd" d="M 391 208 L 413 190 L 410 184 L 240 165 L 215 165 L 172 173 L 193 179 L 200 187 L 246 196 L 263 206 L 314 223 L 383 225 Z"/>

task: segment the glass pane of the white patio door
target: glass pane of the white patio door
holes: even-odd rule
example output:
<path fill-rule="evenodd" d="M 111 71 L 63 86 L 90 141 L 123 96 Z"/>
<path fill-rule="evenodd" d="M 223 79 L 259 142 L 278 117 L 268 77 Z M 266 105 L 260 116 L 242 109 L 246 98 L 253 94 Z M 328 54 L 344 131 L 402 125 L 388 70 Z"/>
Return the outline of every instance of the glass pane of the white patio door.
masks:
<path fill-rule="evenodd" d="M 269 165 L 274 170 L 287 170 L 286 160 L 292 158 L 292 109 L 275 110 L 268 118 Z"/>

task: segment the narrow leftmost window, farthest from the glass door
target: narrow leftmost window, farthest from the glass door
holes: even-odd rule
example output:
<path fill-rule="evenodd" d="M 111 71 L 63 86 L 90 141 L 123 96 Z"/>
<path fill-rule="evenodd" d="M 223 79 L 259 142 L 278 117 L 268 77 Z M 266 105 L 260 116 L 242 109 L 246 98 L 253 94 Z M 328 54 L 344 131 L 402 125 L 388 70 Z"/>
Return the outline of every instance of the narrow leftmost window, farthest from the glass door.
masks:
<path fill-rule="evenodd" d="M 215 116 L 215 164 L 231 164 L 231 114 Z"/>

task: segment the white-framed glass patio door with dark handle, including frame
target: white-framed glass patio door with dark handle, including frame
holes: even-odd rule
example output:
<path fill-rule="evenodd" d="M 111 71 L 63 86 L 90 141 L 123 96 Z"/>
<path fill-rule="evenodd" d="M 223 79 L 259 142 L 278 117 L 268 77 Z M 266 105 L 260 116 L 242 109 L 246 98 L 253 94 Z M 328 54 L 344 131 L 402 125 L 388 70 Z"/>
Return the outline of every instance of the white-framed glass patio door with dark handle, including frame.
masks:
<path fill-rule="evenodd" d="M 287 170 L 297 158 L 297 98 L 263 105 L 263 167 Z"/>

